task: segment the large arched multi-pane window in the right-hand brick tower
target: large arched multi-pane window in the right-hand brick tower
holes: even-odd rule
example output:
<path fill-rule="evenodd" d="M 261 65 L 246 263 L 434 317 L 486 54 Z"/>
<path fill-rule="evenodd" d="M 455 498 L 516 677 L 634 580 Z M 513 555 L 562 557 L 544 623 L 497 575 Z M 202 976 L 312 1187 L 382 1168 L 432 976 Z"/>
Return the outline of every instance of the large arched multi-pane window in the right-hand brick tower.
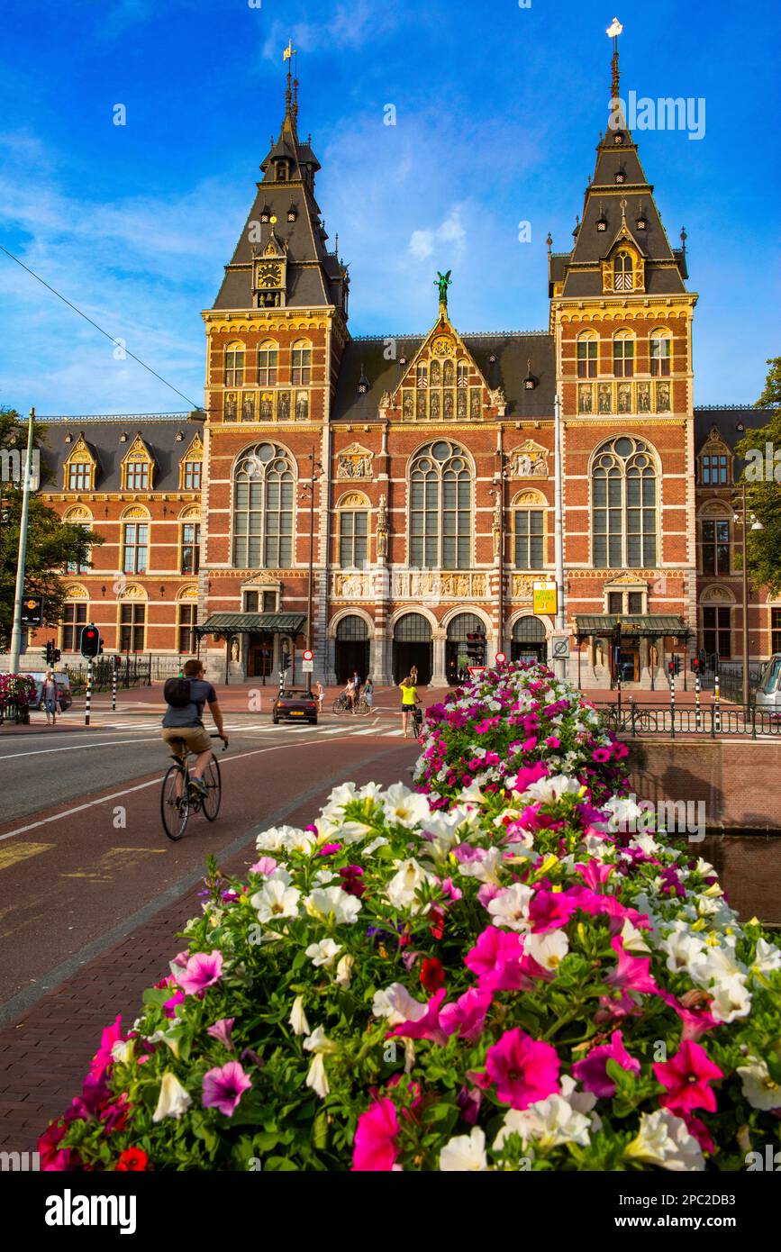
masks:
<path fill-rule="evenodd" d="M 657 481 L 648 444 L 626 434 L 603 443 L 593 459 L 591 487 L 595 566 L 655 566 Z"/>

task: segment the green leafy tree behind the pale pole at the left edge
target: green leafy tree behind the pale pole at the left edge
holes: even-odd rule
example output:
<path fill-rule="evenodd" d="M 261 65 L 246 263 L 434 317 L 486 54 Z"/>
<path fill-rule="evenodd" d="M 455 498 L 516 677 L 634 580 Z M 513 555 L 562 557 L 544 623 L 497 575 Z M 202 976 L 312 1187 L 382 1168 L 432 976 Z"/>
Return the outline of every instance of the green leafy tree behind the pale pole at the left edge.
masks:
<path fill-rule="evenodd" d="M 46 428 L 35 423 L 33 443 L 40 452 L 45 446 Z M 13 475 L 19 461 L 24 462 L 28 443 L 28 423 L 20 422 L 18 413 L 0 408 L 0 456 L 3 482 L 0 482 L 0 649 L 11 642 L 14 623 L 14 593 L 16 587 L 16 560 L 19 553 L 19 525 L 21 518 L 21 486 Z M 13 453 L 19 453 L 14 458 Z M 41 456 L 40 487 L 51 481 Z M 63 616 L 65 583 L 63 573 L 69 563 L 89 565 L 90 548 L 103 543 L 100 535 L 83 526 L 63 522 L 59 513 L 38 495 L 30 492 L 28 521 L 28 560 L 25 591 L 44 597 L 44 625 L 56 626 Z"/>

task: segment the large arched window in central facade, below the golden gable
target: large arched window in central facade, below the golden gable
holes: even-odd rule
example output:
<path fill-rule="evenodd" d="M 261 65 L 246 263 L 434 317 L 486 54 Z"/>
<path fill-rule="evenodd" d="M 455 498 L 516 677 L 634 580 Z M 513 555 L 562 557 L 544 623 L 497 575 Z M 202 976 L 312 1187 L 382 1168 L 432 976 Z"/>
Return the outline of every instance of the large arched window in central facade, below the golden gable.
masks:
<path fill-rule="evenodd" d="M 409 563 L 468 570 L 472 565 L 472 475 L 457 443 L 437 439 L 409 466 Z"/>

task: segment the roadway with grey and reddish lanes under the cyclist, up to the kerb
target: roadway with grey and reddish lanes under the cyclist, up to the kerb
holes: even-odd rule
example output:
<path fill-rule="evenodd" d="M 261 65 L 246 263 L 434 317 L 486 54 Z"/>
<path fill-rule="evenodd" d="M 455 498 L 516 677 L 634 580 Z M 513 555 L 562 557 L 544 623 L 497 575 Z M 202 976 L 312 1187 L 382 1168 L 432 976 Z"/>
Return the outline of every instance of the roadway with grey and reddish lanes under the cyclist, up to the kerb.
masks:
<path fill-rule="evenodd" d="M 159 811 L 159 720 L 118 720 L 0 737 L 1 1017 L 191 888 L 209 853 L 240 871 L 255 859 L 259 830 L 305 824 L 350 777 L 409 781 L 417 755 L 398 719 L 382 714 L 317 727 L 229 714 L 218 820 L 195 815 L 170 843 Z"/>

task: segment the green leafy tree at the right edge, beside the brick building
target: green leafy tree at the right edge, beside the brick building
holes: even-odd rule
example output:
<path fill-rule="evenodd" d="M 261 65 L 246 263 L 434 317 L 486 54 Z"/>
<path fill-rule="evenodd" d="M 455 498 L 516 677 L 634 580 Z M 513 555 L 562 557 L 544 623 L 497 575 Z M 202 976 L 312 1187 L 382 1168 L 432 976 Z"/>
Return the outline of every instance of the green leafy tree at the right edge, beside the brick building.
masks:
<path fill-rule="evenodd" d="M 746 461 L 741 482 L 748 513 L 762 523 L 761 531 L 748 528 L 748 573 L 757 587 L 766 586 L 775 596 L 781 591 L 781 357 L 767 364 L 765 389 L 756 402 L 756 408 L 768 412 L 767 423 L 747 431 L 736 451 Z"/>

